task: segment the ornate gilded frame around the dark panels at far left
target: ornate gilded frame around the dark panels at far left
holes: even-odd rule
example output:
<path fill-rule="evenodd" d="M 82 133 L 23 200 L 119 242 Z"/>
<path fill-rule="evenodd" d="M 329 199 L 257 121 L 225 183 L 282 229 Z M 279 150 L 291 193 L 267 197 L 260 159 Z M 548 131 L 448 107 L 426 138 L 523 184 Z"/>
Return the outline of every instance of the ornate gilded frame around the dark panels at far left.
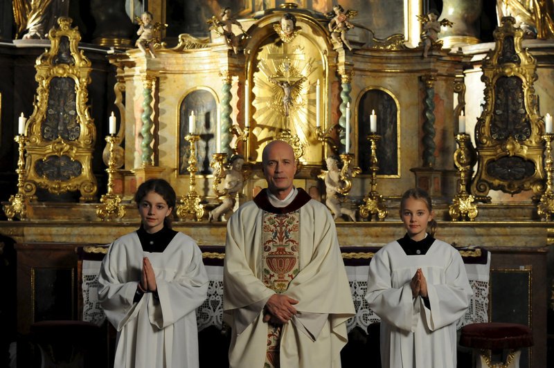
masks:
<path fill-rule="evenodd" d="M 78 49 L 80 33 L 78 28 L 71 28 L 71 18 L 57 19 L 58 27 L 48 33 L 51 47 L 37 58 L 35 80 L 38 83 L 37 97 L 33 114 L 26 123 L 26 178 L 24 191 L 27 196 L 35 198 L 37 187 L 52 194 L 68 191 L 79 191 L 80 201 L 93 201 L 98 186 L 92 170 L 92 156 L 96 141 L 96 127 L 89 115 L 87 85 L 90 82 L 91 62 Z M 63 39 L 66 37 L 66 40 Z M 62 40 L 63 39 L 63 40 Z M 50 139 L 43 134 L 43 127 L 48 113 L 51 82 L 66 80 L 74 84 L 75 106 L 72 111 L 78 125 L 78 137 L 74 140 L 64 139 L 57 131 L 57 138 Z M 48 127 L 46 127 L 47 129 Z M 37 172 L 37 163 L 45 163 L 49 158 L 62 158 L 67 162 L 78 163 L 80 173 L 69 178 L 47 178 Z M 61 165 L 61 164 L 60 164 Z M 61 169 L 60 169 L 61 170 Z"/>

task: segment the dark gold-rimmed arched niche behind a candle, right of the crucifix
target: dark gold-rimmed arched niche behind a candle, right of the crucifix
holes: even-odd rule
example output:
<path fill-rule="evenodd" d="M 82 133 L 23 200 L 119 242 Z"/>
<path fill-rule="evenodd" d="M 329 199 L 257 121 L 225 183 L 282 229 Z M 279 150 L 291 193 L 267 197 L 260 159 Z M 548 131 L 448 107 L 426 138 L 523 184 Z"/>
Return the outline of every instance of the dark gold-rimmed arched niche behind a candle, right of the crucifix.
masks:
<path fill-rule="evenodd" d="M 377 134 L 381 140 L 377 142 L 377 160 L 379 171 L 377 175 L 400 177 L 400 104 L 386 89 L 369 87 L 361 94 L 358 102 L 358 166 L 362 174 L 370 174 L 370 115 L 375 110 L 377 115 Z"/>

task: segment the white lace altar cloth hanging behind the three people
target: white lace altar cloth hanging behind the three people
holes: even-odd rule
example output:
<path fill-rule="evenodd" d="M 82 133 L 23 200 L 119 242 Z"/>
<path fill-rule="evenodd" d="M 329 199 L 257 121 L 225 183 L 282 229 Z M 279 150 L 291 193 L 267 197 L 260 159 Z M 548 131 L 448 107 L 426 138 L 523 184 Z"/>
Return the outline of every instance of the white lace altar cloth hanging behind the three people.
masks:
<path fill-rule="evenodd" d="M 98 302 L 98 272 L 100 261 L 82 262 L 82 297 L 83 320 L 102 324 L 105 320 L 104 312 Z M 369 266 L 346 266 L 346 273 L 350 282 L 352 300 L 356 309 L 356 315 L 347 322 L 348 331 L 359 326 L 364 331 L 370 324 L 379 322 L 379 317 L 368 308 L 364 299 L 368 288 Z M 487 264 L 465 264 L 467 277 L 473 289 L 470 308 L 467 309 L 464 318 L 458 321 L 457 327 L 470 323 L 488 322 L 488 295 L 489 295 L 489 271 L 490 252 L 488 252 Z M 206 266 L 210 285 L 208 297 L 204 304 L 198 307 L 197 324 L 198 331 L 208 326 L 222 328 L 223 314 L 223 267 Z"/>

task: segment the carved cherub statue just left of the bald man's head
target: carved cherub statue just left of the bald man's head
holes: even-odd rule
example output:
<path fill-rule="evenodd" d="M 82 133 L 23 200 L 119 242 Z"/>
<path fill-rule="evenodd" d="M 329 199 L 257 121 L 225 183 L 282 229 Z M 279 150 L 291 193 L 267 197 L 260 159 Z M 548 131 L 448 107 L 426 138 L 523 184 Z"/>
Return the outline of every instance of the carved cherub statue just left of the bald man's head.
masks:
<path fill-rule="evenodd" d="M 223 182 L 226 195 L 222 199 L 222 203 L 216 208 L 210 211 L 208 214 L 209 221 L 219 221 L 220 217 L 233 213 L 233 207 L 235 206 L 235 196 L 242 191 L 244 184 L 244 174 L 242 172 L 242 165 L 244 165 L 244 158 L 240 155 L 235 155 L 229 160 L 231 167 L 225 170 L 225 179 Z"/>

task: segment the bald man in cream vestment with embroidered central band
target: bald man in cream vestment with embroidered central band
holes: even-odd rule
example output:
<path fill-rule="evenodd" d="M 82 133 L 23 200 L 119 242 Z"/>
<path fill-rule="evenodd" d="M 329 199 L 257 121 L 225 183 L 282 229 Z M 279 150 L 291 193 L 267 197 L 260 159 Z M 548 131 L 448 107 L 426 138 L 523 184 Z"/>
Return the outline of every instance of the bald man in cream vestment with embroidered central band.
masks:
<path fill-rule="evenodd" d="M 229 220 L 224 320 L 231 368 L 340 367 L 354 304 L 325 205 L 293 186 L 292 147 L 262 153 L 267 190 Z"/>

